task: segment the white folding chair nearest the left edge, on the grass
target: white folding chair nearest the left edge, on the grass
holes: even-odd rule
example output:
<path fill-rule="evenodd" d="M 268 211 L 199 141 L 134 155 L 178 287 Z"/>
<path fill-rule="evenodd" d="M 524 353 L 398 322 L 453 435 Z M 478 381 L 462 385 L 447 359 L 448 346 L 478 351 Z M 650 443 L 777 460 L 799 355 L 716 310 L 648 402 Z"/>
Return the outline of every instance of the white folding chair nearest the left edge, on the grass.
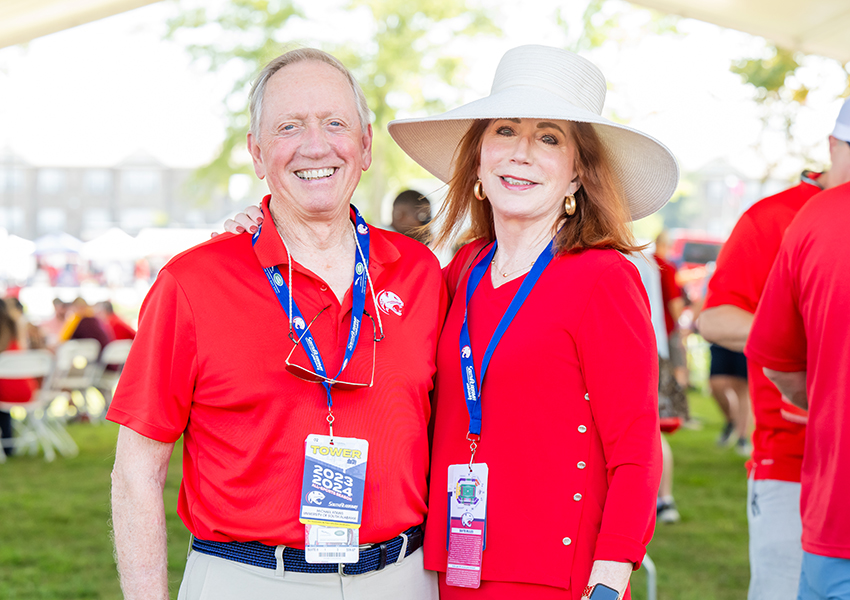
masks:
<path fill-rule="evenodd" d="M 53 372 L 53 355 L 47 350 L 12 350 L 0 353 L 0 379 L 21 380 L 39 377 L 50 378 Z M 0 410 L 11 412 L 16 436 L 4 441 L 4 446 L 25 448 L 30 454 L 44 449 L 44 459 L 52 461 L 56 451 L 64 456 L 76 456 L 77 444 L 65 430 L 61 420 L 51 417 L 47 410 L 55 396 L 36 389 L 27 402 L 0 402 Z M 0 452 L 0 462 L 6 455 Z"/>

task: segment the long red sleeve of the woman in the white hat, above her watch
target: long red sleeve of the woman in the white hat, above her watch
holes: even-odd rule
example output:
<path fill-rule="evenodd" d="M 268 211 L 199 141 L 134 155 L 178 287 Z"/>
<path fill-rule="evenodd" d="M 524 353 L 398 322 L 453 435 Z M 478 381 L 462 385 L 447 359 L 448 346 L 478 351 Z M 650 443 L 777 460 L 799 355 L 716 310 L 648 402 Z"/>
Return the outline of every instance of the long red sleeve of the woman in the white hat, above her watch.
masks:
<path fill-rule="evenodd" d="M 640 565 L 655 528 L 661 441 L 658 354 L 634 265 L 608 267 L 581 323 L 581 369 L 610 482 L 594 560 Z"/>

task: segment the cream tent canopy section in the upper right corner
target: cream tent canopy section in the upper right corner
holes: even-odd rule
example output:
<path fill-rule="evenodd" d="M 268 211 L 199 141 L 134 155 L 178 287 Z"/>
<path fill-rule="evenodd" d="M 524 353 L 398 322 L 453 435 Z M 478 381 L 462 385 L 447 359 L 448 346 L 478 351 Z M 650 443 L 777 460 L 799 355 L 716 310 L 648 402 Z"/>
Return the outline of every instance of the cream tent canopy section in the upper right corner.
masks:
<path fill-rule="evenodd" d="M 664 13 L 765 37 L 778 46 L 850 61 L 848 0 L 631 0 Z"/>

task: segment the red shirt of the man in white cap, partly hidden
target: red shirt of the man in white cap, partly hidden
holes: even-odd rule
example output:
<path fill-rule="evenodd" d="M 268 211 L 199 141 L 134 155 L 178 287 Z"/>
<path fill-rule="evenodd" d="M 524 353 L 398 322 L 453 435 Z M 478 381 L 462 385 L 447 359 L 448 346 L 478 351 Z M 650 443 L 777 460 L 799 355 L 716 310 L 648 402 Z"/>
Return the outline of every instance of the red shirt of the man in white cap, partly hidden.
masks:
<path fill-rule="evenodd" d="M 705 308 L 729 304 L 756 312 L 785 230 L 819 191 L 816 185 L 801 182 L 756 202 L 741 215 L 717 257 Z M 782 400 L 782 394 L 764 376 L 762 365 L 751 357 L 747 357 L 747 374 L 755 416 L 753 455 L 747 470 L 754 479 L 800 481 L 805 417 Z"/>

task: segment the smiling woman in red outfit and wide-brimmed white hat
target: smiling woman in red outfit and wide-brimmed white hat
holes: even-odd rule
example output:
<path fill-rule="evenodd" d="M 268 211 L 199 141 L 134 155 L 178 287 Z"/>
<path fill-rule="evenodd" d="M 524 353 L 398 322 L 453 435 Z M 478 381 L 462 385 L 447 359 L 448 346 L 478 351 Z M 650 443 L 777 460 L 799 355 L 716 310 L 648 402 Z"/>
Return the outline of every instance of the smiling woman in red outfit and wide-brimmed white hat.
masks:
<path fill-rule="evenodd" d="M 678 168 L 599 116 L 605 89 L 583 58 L 524 46 L 490 96 L 389 125 L 449 184 L 437 242 L 471 220 L 437 351 L 425 566 L 444 600 L 628 598 L 652 535 L 658 355 L 623 254 Z"/>

